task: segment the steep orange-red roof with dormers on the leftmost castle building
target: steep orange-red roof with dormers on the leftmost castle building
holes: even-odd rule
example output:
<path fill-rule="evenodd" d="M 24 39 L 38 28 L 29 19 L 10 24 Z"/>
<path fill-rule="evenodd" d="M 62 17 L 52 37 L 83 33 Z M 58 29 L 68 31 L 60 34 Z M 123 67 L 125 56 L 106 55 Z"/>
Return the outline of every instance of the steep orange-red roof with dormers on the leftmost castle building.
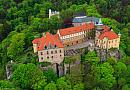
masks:
<path fill-rule="evenodd" d="M 63 48 L 63 44 L 60 41 L 59 35 L 52 35 L 49 32 L 47 32 L 46 35 L 41 38 L 34 39 L 32 43 L 38 45 L 38 50 L 44 50 L 44 47 L 49 45 L 56 45 L 58 48 Z"/>

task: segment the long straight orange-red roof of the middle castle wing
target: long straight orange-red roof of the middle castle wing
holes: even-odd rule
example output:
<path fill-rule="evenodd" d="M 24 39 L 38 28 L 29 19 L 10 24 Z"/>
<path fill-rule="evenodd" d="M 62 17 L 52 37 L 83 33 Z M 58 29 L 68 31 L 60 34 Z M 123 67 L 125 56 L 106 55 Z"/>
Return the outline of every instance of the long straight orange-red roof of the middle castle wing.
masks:
<path fill-rule="evenodd" d="M 93 23 L 89 23 L 89 24 L 83 24 L 81 26 L 60 29 L 59 32 L 60 32 L 61 36 L 65 36 L 65 35 L 78 33 L 78 32 L 81 32 L 81 31 L 92 30 L 94 28 L 95 28 L 94 24 Z"/>

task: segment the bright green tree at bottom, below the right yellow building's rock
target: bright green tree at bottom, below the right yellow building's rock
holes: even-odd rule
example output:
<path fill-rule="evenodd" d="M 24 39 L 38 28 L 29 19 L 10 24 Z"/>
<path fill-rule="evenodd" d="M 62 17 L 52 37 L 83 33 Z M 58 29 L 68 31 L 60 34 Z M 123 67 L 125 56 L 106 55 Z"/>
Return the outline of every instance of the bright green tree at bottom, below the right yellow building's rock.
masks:
<path fill-rule="evenodd" d="M 99 76 L 96 76 L 98 78 L 97 84 L 102 89 L 110 89 L 115 83 L 115 77 L 113 76 L 114 69 L 109 63 L 103 63 L 99 67 L 96 68 L 97 73 L 99 72 Z M 96 72 L 95 71 L 95 72 Z"/>

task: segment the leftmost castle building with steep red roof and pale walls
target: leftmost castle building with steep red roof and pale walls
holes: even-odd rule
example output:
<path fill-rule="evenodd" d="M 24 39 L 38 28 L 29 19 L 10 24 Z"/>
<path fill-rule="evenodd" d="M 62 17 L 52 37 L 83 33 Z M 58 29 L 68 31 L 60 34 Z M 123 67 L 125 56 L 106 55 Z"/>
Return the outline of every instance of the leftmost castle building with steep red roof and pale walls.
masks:
<path fill-rule="evenodd" d="M 41 38 L 32 41 L 34 52 L 38 54 L 39 62 L 51 62 L 60 64 L 64 59 L 64 46 L 59 35 L 49 32 Z"/>

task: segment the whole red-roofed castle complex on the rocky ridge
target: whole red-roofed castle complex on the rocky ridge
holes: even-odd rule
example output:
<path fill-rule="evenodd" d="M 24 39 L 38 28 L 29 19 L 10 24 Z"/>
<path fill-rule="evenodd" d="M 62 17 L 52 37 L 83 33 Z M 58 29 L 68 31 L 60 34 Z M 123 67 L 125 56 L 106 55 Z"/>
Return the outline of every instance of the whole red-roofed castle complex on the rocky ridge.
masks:
<path fill-rule="evenodd" d="M 99 19 L 98 23 L 90 20 L 87 23 L 74 24 L 74 27 L 59 29 L 55 35 L 47 32 L 41 38 L 34 39 L 32 43 L 34 53 L 38 54 L 39 62 L 60 64 L 64 60 L 66 47 L 93 39 L 95 40 L 95 47 L 119 49 L 120 36 L 108 26 L 103 25 Z"/>

